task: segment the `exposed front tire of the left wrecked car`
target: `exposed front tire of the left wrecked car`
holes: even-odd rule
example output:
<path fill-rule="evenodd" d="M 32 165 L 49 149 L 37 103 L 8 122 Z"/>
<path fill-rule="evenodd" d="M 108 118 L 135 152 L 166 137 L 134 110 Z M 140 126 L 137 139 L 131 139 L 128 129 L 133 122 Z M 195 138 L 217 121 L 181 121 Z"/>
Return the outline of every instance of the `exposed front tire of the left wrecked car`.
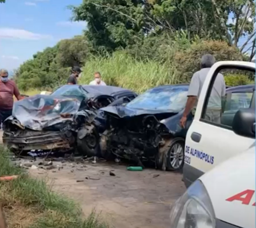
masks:
<path fill-rule="evenodd" d="M 99 134 L 97 130 L 93 130 L 91 134 L 84 138 L 77 138 L 77 151 L 79 154 L 87 157 L 94 157 L 98 155 L 99 151 Z"/>

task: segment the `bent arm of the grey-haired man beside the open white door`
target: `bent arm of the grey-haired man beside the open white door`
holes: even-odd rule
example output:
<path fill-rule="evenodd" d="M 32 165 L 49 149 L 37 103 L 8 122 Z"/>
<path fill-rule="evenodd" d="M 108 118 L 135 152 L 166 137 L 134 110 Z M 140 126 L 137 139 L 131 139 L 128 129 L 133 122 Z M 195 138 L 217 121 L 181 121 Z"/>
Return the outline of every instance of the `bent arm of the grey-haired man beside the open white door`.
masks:
<path fill-rule="evenodd" d="M 199 93 L 200 81 L 198 78 L 198 74 L 195 73 L 191 78 L 189 91 L 187 91 L 187 103 L 185 106 L 185 110 L 183 112 L 183 117 L 187 117 L 190 113 L 191 109 L 193 109 L 195 102 L 197 102 L 197 96 Z"/>

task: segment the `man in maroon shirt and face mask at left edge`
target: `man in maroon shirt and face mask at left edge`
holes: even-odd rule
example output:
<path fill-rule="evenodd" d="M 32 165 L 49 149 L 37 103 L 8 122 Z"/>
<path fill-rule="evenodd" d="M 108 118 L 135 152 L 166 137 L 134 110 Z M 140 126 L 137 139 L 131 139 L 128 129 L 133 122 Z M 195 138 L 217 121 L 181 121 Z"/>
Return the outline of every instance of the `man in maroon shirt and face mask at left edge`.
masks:
<path fill-rule="evenodd" d="M 15 82 L 8 77 L 8 71 L 0 70 L 0 125 L 13 113 L 13 97 L 17 100 L 23 99 Z"/>

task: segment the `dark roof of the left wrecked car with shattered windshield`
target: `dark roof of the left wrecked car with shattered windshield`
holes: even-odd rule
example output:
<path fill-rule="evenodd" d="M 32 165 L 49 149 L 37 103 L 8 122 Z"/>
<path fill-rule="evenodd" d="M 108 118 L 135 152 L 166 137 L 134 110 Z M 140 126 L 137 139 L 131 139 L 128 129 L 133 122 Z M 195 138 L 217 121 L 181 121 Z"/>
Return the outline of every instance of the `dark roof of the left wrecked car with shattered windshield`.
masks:
<path fill-rule="evenodd" d="M 131 90 L 123 89 L 117 86 L 89 86 L 89 85 L 82 85 L 83 89 L 86 90 L 88 93 L 91 94 L 102 94 L 102 95 L 114 95 L 120 93 L 122 91 L 129 91 L 134 93 Z"/>

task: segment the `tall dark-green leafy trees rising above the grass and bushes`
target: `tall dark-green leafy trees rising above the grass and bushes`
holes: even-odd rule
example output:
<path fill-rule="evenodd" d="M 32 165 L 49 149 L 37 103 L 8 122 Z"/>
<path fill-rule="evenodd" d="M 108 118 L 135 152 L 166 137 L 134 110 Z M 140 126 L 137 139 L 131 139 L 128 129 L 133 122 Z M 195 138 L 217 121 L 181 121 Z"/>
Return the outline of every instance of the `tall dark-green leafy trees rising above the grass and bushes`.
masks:
<path fill-rule="evenodd" d="M 254 0 L 85 0 L 71 9 L 74 21 L 87 22 L 85 33 L 94 49 L 125 49 L 181 30 L 188 39 L 225 40 L 242 53 L 255 43 Z M 229 22 L 230 15 L 235 23 Z M 245 36 L 248 40 L 241 44 Z"/>

